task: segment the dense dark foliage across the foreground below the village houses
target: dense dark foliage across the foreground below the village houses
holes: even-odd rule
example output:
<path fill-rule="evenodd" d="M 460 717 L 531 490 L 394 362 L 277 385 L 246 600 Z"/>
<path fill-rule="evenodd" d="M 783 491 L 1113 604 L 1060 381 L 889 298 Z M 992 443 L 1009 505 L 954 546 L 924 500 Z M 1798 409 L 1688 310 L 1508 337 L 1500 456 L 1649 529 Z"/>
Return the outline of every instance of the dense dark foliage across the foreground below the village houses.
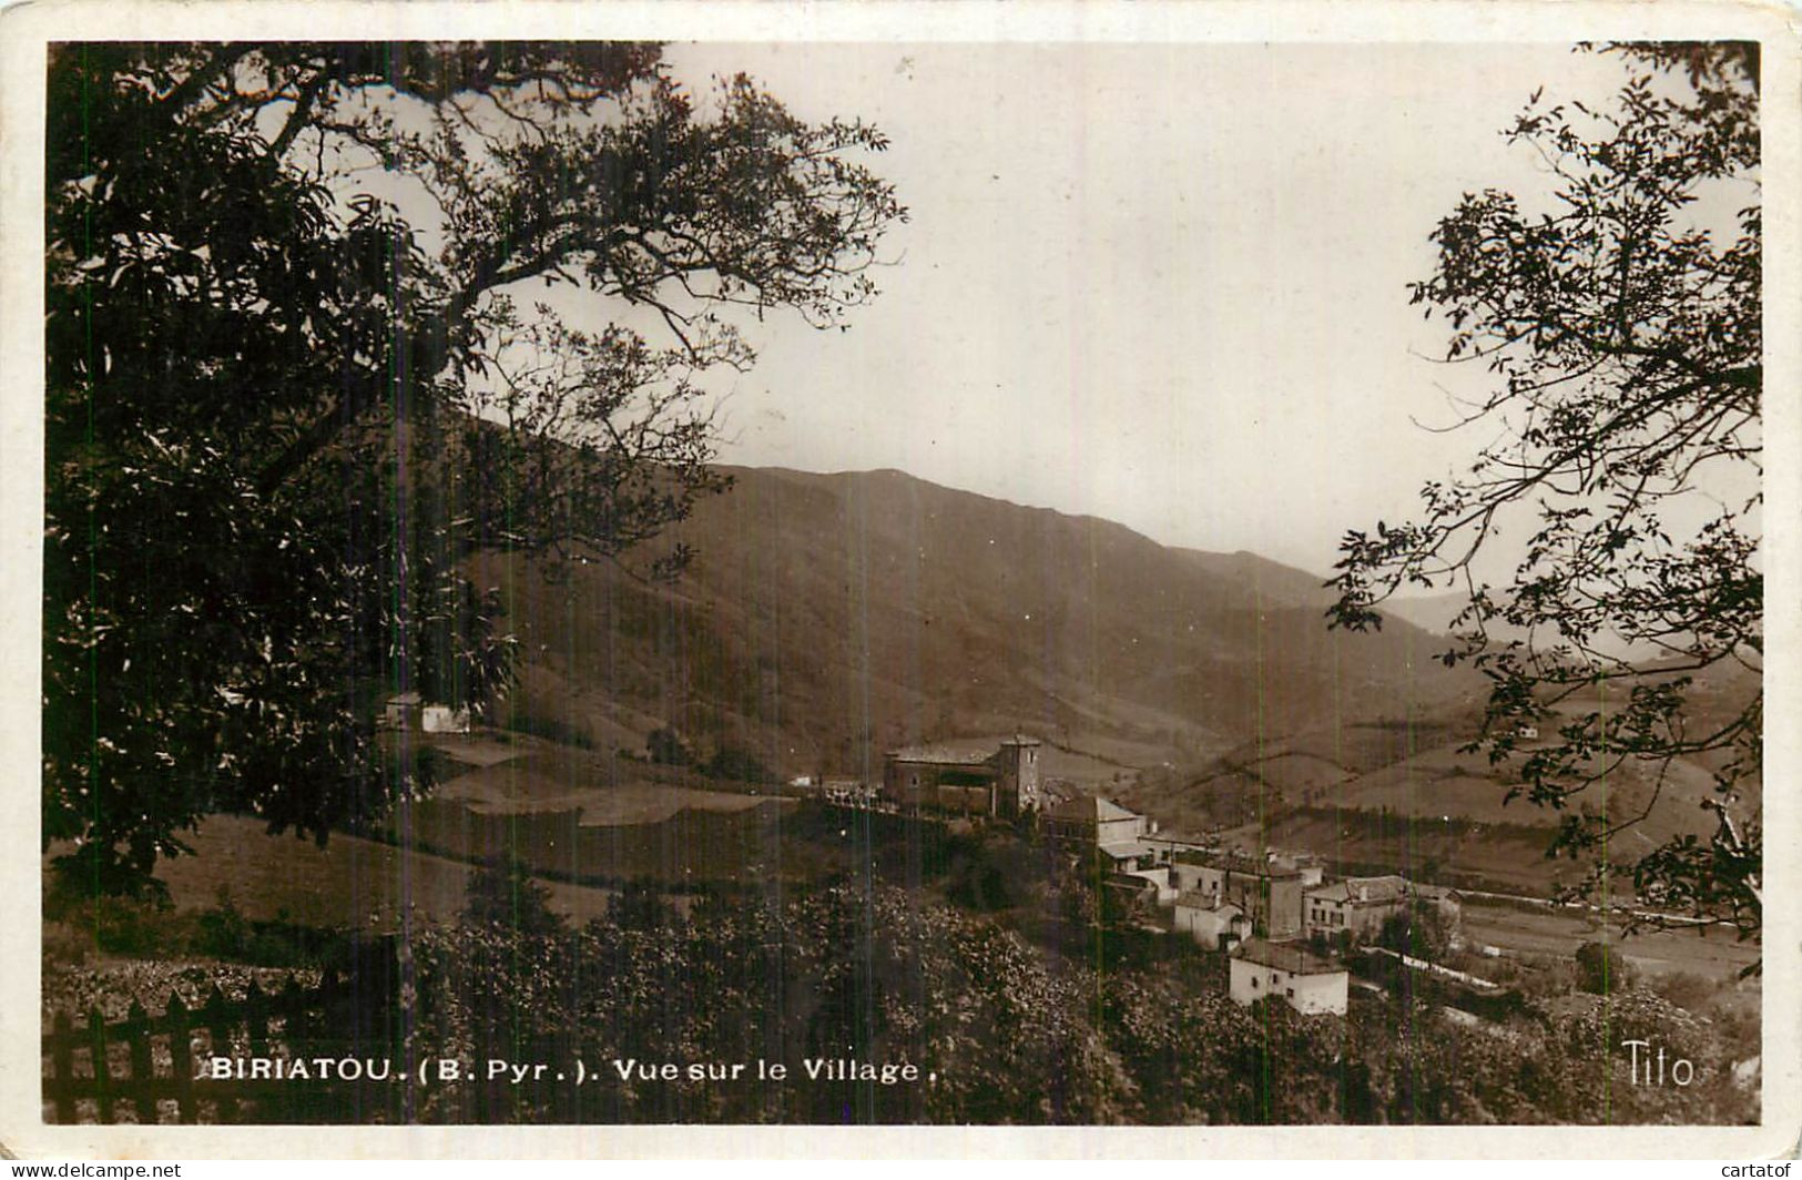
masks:
<path fill-rule="evenodd" d="M 887 883 L 701 895 L 687 919 L 611 912 L 416 939 L 414 1052 L 587 1063 L 589 1083 L 434 1086 L 423 1121 L 926 1124 L 1743 1122 L 1755 1030 L 1616 982 L 1595 1009 L 1472 1027 L 1440 1003 L 1353 993 L 1348 1016 L 1240 1005 L 1218 955 L 1108 967 Z M 1692 1059 L 1634 1086 L 1620 1041 Z M 807 1059 L 914 1065 L 879 1085 Z M 674 1061 L 672 1081 L 613 1061 Z M 782 1083 L 694 1063 L 780 1063 Z"/>

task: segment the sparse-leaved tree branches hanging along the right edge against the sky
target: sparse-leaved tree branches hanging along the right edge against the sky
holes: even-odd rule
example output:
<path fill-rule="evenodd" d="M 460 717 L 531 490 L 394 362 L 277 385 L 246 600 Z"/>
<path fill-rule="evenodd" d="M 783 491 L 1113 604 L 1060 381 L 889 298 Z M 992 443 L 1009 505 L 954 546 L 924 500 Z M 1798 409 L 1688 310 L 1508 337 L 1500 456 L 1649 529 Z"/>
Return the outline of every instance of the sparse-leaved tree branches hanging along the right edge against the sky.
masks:
<path fill-rule="evenodd" d="M 1418 522 L 1350 531 L 1333 625 L 1380 625 L 1402 587 L 1461 587 L 1458 647 L 1488 677 L 1485 746 L 1508 796 L 1566 812 L 1555 850 L 1584 888 L 1629 874 L 1652 904 L 1761 928 L 1762 600 L 1759 58 L 1755 45 L 1615 45 L 1613 103 L 1535 92 L 1510 142 L 1550 193 L 1469 193 L 1433 232 L 1413 301 L 1449 364 L 1490 393 L 1456 479 Z M 1530 521 L 1512 576 L 1479 560 Z M 1492 558 L 1485 558 L 1492 560 Z M 1523 730 L 1548 740 L 1521 746 Z M 1611 863 L 1679 762 L 1714 773 L 1712 838 Z M 1606 794 L 1634 771 L 1633 807 Z"/>

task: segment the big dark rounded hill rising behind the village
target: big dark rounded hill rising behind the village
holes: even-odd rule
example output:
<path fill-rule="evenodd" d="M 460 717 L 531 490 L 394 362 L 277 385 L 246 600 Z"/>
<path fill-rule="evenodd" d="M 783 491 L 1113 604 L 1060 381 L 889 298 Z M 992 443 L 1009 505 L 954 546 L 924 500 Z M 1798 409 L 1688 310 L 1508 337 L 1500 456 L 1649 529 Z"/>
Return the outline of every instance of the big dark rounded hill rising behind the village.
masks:
<path fill-rule="evenodd" d="M 1312 573 L 901 472 L 728 468 L 676 585 L 551 582 L 483 557 L 526 668 L 514 722 L 600 749 L 672 726 L 780 773 L 879 769 L 919 739 L 1027 730 L 1128 766 L 1474 701 L 1404 622 L 1326 631 Z"/>

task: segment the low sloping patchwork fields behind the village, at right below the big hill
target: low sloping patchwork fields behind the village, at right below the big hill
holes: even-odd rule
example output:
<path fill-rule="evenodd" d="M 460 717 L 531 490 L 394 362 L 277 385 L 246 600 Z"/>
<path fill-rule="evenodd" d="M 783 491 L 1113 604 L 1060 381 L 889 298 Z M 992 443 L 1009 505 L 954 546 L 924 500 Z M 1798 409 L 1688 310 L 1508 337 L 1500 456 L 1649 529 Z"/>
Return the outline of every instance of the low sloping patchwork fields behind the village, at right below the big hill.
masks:
<path fill-rule="evenodd" d="M 1656 677 L 1656 668 L 1647 676 Z M 1559 712 L 1607 710 L 1627 692 L 1629 685 L 1602 685 Z M 1714 731 L 1757 692 L 1757 674 L 1716 665 L 1690 683 L 1685 715 L 1694 731 Z M 1463 699 L 1261 737 L 1206 764 L 1148 773 L 1114 794 L 1159 816 L 1173 834 L 1215 832 L 1234 843 L 1308 849 L 1341 867 L 1530 892 L 1580 876 L 1580 865 L 1544 856 L 1564 812 L 1508 800 L 1508 787 L 1521 782 L 1519 758 L 1559 740 L 1561 722 L 1543 721 L 1541 737 L 1519 739 L 1515 762 L 1492 764 L 1483 751 L 1465 749 L 1481 713 L 1481 701 Z M 1661 782 L 1658 764 L 1627 760 L 1571 805 L 1629 823 L 1613 841 L 1622 859 L 1674 836 L 1706 838 L 1716 820 L 1703 802 L 1717 798 L 1712 771 L 1726 757 L 1676 758 Z M 1757 812 L 1757 780 L 1743 782 L 1741 791 Z"/>

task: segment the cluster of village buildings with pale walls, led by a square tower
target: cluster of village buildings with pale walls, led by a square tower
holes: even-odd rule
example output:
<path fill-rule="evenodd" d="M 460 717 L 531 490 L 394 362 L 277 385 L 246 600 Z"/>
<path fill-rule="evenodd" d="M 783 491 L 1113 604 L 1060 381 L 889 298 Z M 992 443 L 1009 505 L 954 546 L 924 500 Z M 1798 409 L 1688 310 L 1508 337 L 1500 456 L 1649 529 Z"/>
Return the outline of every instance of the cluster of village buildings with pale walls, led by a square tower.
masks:
<path fill-rule="evenodd" d="M 883 811 L 919 820 L 1031 823 L 1042 838 L 1099 868 L 1114 912 L 1157 915 L 1157 930 L 1188 933 L 1229 955 L 1229 991 L 1238 1003 L 1276 996 L 1297 1012 L 1346 1012 L 1353 975 L 1427 973 L 1440 991 L 1479 1012 L 1515 996 L 1488 980 L 1379 946 L 1386 926 L 1402 930 L 1425 915 L 1460 942 L 1461 899 L 1452 888 L 1384 874 L 1330 877 L 1308 850 L 1234 849 L 1177 840 L 1159 821 L 1101 794 L 1078 794 L 1045 780 L 1043 742 L 1024 733 L 993 749 L 955 744 L 890 749 L 879 784 L 800 776 L 789 787 L 833 807 Z M 1353 971 L 1377 960 L 1382 969 Z"/>

